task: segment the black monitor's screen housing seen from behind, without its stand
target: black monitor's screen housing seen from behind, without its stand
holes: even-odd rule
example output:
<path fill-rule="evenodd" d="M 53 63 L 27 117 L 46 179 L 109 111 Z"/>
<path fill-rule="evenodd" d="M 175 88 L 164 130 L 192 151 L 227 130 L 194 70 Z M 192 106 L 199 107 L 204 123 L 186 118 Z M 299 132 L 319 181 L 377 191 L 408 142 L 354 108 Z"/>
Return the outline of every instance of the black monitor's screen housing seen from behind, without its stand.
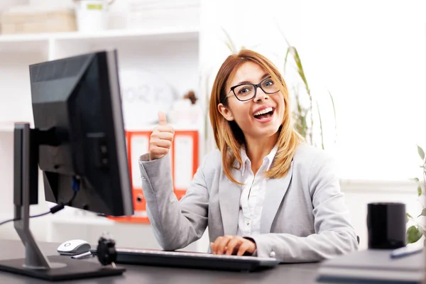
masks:
<path fill-rule="evenodd" d="M 115 52 L 30 66 L 36 129 L 55 129 L 58 146 L 40 145 L 46 200 L 112 216 L 133 214 Z"/>

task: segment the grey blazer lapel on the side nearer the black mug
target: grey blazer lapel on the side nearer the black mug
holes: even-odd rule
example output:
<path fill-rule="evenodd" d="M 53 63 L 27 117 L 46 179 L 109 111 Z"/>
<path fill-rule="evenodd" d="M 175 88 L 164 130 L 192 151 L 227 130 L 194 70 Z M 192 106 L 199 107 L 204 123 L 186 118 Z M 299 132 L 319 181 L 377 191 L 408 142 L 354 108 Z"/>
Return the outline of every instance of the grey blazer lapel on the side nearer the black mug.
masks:
<path fill-rule="evenodd" d="M 272 178 L 266 182 L 266 196 L 263 202 L 261 215 L 261 234 L 271 232 L 271 226 L 275 215 L 278 212 L 281 202 L 283 201 L 285 192 L 287 192 L 293 176 L 293 161 L 290 165 L 287 175 L 284 178 Z"/>

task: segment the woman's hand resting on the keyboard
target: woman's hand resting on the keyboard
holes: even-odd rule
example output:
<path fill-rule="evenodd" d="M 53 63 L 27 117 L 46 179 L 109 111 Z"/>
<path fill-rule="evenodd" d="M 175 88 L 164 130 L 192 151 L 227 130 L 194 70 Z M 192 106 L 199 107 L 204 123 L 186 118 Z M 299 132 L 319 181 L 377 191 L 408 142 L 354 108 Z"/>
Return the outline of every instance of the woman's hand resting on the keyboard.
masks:
<path fill-rule="evenodd" d="M 219 236 L 214 243 L 210 243 L 213 254 L 253 254 L 256 251 L 256 243 L 250 239 L 244 239 L 241 236 Z"/>

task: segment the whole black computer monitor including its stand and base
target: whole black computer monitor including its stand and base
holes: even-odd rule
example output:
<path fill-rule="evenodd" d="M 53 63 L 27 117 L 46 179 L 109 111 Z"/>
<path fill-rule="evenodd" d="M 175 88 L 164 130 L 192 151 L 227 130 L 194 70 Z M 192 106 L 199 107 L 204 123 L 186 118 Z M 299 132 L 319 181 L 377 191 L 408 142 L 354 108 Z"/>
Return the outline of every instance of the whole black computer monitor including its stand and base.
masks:
<path fill-rule="evenodd" d="M 0 261 L 0 270 L 47 280 L 123 273 L 45 257 L 28 222 L 29 205 L 38 202 L 38 165 L 46 200 L 112 216 L 133 214 L 117 70 L 115 50 L 30 66 L 35 127 L 16 124 L 14 131 L 14 226 L 26 258 Z"/>

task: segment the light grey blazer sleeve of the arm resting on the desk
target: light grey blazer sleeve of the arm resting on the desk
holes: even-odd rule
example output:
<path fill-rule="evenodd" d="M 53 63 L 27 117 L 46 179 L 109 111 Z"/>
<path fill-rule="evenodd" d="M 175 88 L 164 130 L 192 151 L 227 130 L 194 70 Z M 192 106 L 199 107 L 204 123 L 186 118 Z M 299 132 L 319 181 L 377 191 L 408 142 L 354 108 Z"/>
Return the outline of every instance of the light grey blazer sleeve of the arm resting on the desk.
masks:
<path fill-rule="evenodd" d="M 292 234 L 260 234 L 251 236 L 256 253 L 275 257 L 281 262 L 322 261 L 358 249 L 349 210 L 340 192 L 334 160 L 320 153 L 312 162 L 308 187 L 312 198 L 315 234 L 300 237 Z"/>

